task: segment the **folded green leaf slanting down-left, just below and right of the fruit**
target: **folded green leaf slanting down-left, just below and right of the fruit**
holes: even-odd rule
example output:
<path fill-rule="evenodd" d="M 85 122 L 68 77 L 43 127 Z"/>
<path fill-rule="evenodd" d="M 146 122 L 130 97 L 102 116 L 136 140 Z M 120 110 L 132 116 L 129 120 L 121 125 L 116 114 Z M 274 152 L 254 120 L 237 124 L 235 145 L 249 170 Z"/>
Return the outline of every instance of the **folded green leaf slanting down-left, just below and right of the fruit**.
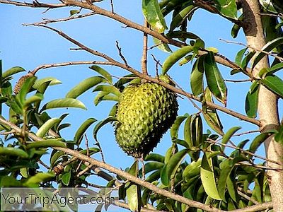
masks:
<path fill-rule="evenodd" d="M 175 172 L 178 170 L 178 167 L 180 163 L 182 163 L 186 154 L 187 154 L 187 149 L 183 149 L 182 151 L 175 153 L 175 155 L 173 155 L 169 159 L 168 163 L 163 167 L 163 170 L 161 170 L 162 184 L 166 186 L 169 185 L 170 179 L 172 179 L 175 176 Z"/>

